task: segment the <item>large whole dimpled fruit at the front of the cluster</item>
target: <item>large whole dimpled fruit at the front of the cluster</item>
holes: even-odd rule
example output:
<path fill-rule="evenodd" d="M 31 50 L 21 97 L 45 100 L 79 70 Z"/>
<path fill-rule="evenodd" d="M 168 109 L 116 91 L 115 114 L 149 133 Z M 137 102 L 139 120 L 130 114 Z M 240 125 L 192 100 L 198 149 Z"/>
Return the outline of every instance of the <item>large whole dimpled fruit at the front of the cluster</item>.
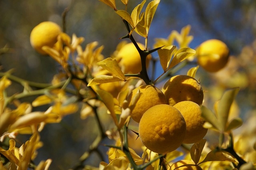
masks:
<path fill-rule="evenodd" d="M 186 135 L 186 122 L 180 111 L 170 105 L 155 105 L 140 119 L 139 136 L 151 151 L 166 154 L 176 150 Z"/>

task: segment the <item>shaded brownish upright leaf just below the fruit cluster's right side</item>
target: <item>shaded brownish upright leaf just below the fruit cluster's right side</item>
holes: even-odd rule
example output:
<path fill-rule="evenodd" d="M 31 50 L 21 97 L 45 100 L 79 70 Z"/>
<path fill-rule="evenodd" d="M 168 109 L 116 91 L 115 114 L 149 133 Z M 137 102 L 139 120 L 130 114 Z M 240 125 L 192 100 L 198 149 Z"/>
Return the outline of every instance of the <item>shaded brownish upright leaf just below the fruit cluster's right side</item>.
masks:
<path fill-rule="evenodd" d="M 190 156 L 195 164 L 197 164 L 200 160 L 205 143 L 206 139 L 202 139 L 199 142 L 194 143 L 190 148 Z"/>

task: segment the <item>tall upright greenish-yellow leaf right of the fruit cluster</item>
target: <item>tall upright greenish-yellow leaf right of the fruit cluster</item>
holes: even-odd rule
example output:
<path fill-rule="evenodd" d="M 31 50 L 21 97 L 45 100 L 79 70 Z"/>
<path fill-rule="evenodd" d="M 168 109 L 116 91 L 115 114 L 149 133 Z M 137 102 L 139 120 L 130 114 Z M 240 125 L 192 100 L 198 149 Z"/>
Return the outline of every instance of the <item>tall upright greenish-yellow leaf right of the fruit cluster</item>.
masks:
<path fill-rule="evenodd" d="M 238 91 L 238 87 L 226 91 L 216 105 L 217 117 L 220 122 L 220 130 L 222 132 L 226 130 L 230 107 Z"/>

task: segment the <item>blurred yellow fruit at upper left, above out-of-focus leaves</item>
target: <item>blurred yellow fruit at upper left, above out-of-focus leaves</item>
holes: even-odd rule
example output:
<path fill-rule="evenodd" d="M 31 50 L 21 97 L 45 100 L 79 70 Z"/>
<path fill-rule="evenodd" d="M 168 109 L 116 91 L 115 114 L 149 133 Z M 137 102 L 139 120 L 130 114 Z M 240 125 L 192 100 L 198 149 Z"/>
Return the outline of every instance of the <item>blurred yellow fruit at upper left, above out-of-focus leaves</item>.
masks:
<path fill-rule="evenodd" d="M 53 47 L 57 42 L 57 37 L 61 33 L 61 28 L 54 22 L 41 22 L 35 26 L 30 34 L 30 43 L 36 51 L 41 54 L 46 54 L 42 47 L 47 45 Z"/>

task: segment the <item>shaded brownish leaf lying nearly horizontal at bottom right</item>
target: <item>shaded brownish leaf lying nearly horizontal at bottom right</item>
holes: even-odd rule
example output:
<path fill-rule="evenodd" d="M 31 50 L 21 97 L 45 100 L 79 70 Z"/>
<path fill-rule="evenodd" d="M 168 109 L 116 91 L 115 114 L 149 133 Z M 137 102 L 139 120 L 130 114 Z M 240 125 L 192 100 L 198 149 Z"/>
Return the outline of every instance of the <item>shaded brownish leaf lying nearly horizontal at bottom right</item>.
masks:
<path fill-rule="evenodd" d="M 206 157 L 204 158 L 204 160 L 202 162 L 200 162 L 200 164 L 202 164 L 204 162 L 209 162 L 209 161 L 236 162 L 236 160 L 234 158 L 232 158 L 232 156 L 225 154 L 223 152 L 215 151 L 215 150 L 212 150 L 211 152 L 209 152 L 206 155 Z"/>

